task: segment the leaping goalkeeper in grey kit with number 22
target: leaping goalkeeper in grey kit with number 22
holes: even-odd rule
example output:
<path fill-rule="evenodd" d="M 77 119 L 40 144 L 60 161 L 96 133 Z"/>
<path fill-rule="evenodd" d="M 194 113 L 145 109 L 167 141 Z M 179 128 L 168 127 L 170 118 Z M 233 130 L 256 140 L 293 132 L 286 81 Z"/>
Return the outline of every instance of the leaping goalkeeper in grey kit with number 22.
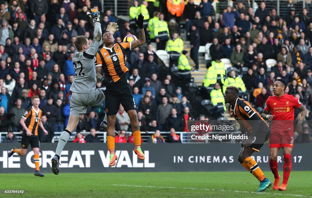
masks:
<path fill-rule="evenodd" d="M 86 36 L 77 36 L 74 44 L 77 52 L 73 55 L 72 61 L 75 69 L 75 77 L 71 85 L 71 110 L 69 114 L 68 125 L 60 136 L 56 147 L 55 156 L 52 158 L 52 172 L 55 175 L 59 173 L 59 160 L 61 152 L 66 145 L 69 136 L 78 125 L 81 114 L 86 113 L 88 106 L 100 106 L 105 95 L 101 89 L 95 89 L 95 64 L 94 56 L 99 46 L 102 44 L 102 31 L 100 24 L 100 12 L 91 8 L 91 13 L 87 15 L 92 18 L 94 22 L 94 36 L 92 44 L 89 46 L 89 40 Z M 113 23 L 107 26 L 107 31 L 114 34 L 118 26 Z M 104 119 L 105 120 L 105 119 Z"/>

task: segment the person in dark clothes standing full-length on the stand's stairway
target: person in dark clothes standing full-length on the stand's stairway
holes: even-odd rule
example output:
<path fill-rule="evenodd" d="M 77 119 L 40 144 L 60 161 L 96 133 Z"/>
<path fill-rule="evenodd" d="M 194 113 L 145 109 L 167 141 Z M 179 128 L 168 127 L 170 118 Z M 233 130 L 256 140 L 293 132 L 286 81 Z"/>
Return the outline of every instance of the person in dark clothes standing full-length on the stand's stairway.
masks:
<path fill-rule="evenodd" d="M 207 0 L 206 0 L 207 1 Z M 200 34 L 195 26 L 192 26 L 191 36 L 190 36 L 190 44 L 191 44 L 191 59 L 195 63 L 195 70 L 199 71 L 199 61 L 198 61 L 198 50 L 200 46 Z"/>

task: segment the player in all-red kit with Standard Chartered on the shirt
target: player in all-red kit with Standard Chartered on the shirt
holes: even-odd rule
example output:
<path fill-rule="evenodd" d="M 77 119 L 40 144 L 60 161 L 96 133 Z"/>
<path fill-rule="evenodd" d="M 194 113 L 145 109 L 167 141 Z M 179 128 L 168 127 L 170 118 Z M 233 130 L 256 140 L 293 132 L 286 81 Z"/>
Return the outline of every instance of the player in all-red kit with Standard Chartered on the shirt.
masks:
<path fill-rule="evenodd" d="M 274 175 L 273 190 L 285 191 L 287 181 L 291 171 L 291 151 L 294 145 L 294 117 L 295 109 L 301 111 L 300 120 L 297 123 L 296 129 L 298 133 L 302 134 L 301 124 L 307 109 L 300 100 L 293 95 L 288 95 L 284 91 L 287 87 L 285 80 L 278 79 L 273 86 L 274 96 L 270 96 L 265 103 L 265 108 L 262 117 L 272 120 L 271 136 L 270 136 L 270 168 Z M 269 114 L 271 110 L 271 114 Z M 280 187 L 280 175 L 277 170 L 277 155 L 280 148 L 283 148 L 284 153 L 284 168 L 283 168 L 283 182 Z"/>

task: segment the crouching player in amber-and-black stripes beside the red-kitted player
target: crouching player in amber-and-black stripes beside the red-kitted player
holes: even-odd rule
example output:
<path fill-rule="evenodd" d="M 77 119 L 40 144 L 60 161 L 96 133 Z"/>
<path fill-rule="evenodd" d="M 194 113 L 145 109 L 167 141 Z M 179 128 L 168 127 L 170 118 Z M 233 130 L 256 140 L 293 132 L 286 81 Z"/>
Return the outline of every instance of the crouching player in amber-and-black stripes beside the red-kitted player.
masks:
<path fill-rule="evenodd" d="M 270 127 L 249 102 L 238 98 L 238 94 L 239 89 L 236 86 L 228 86 L 224 94 L 225 103 L 230 104 L 229 113 L 240 124 L 241 134 L 248 136 L 248 139 L 241 144 L 238 161 L 260 181 L 257 192 L 265 191 L 272 183 L 264 176 L 257 162 L 250 156 L 255 151 L 259 152 L 269 138 Z"/>

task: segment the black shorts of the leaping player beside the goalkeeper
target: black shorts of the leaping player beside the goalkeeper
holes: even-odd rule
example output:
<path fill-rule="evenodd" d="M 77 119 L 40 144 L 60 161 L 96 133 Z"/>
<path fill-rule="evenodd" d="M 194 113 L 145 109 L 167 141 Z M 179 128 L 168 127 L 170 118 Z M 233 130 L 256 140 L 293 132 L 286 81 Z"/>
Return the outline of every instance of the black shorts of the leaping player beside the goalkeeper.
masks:
<path fill-rule="evenodd" d="M 132 89 L 128 84 L 123 87 L 116 87 L 114 90 L 106 89 L 105 91 L 105 111 L 107 115 L 116 115 L 120 104 L 126 112 L 136 110 Z"/>

